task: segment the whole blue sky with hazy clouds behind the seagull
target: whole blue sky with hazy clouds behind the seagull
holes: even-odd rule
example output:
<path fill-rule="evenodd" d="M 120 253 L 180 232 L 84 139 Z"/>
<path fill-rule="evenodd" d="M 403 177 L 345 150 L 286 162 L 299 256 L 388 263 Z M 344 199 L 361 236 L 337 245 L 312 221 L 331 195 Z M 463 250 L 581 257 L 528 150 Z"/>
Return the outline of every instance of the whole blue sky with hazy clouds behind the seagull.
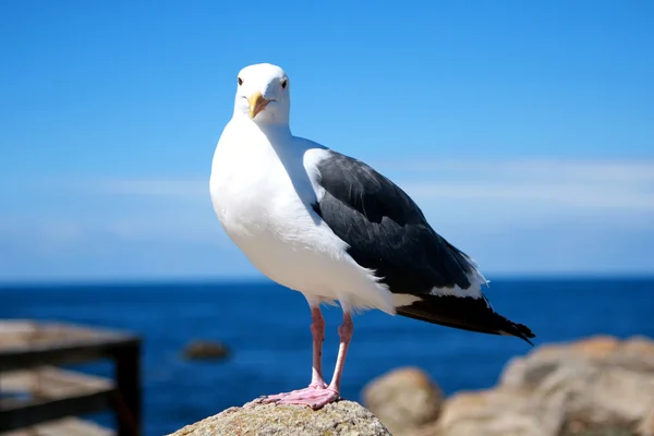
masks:
<path fill-rule="evenodd" d="M 237 72 L 486 276 L 654 272 L 650 1 L 0 3 L 0 281 L 257 276 L 208 195 Z"/>

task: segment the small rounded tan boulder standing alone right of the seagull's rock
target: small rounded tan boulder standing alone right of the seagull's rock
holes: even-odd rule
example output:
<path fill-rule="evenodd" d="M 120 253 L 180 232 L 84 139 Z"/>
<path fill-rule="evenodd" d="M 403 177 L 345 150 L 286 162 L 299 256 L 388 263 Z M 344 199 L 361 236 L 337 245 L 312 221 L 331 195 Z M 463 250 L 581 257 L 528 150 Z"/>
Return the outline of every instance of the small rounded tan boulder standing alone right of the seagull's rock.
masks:
<path fill-rule="evenodd" d="M 438 417 L 443 392 L 425 372 L 405 367 L 370 382 L 363 389 L 363 403 L 393 435 L 401 436 Z"/>

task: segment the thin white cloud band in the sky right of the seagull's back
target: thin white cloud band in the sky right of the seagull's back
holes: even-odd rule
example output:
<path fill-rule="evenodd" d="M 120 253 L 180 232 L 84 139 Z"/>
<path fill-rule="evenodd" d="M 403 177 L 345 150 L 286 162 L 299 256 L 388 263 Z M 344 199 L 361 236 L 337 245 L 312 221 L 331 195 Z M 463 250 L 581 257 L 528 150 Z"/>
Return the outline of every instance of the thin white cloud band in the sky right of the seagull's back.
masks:
<path fill-rule="evenodd" d="M 388 167 L 407 192 L 425 201 L 654 209 L 654 162 L 649 161 L 447 160 Z M 402 178 L 407 179 L 403 183 Z"/>

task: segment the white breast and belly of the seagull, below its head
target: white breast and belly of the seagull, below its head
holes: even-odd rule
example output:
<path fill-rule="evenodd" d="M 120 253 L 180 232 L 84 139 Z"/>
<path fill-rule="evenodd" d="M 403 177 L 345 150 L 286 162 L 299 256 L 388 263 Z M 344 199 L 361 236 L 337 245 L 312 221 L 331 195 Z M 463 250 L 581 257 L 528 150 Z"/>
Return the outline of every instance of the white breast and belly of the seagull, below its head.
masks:
<path fill-rule="evenodd" d="M 390 292 L 313 211 L 306 149 L 276 152 L 258 133 L 228 125 L 216 148 L 211 201 L 227 234 L 263 274 L 310 300 L 393 313 Z"/>

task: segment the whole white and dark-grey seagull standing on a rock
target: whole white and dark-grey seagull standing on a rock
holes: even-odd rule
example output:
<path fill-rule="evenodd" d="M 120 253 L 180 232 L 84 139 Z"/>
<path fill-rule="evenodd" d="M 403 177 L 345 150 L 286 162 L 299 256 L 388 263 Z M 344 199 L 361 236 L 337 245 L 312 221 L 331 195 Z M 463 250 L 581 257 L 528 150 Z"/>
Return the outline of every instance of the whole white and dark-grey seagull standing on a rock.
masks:
<path fill-rule="evenodd" d="M 361 160 L 291 133 L 290 92 L 280 66 L 239 72 L 209 182 L 215 213 L 233 243 L 269 279 L 301 292 L 311 308 L 308 387 L 262 401 L 316 410 L 338 400 L 352 314 L 365 310 L 531 344 L 531 329 L 495 312 L 474 261 L 436 233 L 404 191 Z M 320 305 L 336 301 L 343 318 L 327 384 Z"/>

